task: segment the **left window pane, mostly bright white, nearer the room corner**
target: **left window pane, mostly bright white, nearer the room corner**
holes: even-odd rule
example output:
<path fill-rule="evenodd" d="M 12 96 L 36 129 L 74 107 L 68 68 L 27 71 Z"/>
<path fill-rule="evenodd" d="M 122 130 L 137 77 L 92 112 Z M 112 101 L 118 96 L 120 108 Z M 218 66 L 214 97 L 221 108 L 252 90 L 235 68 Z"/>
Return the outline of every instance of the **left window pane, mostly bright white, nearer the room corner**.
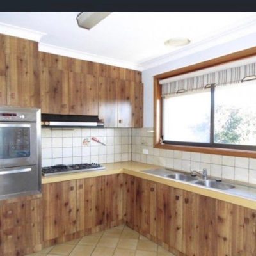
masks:
<path fill-rule="evenodd" d="M 163 100 L 166 141 L 210 143 L 211 91 L 180 93 Z"/>

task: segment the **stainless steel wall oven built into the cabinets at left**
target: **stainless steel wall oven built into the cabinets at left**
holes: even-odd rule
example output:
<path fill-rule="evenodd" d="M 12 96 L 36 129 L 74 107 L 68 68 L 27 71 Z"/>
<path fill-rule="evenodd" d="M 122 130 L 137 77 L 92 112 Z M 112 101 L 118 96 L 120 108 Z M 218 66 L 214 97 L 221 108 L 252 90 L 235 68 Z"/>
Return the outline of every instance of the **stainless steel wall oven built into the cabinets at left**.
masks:
<path fill-rule="evenodd" d="M 40 109 L 0 107 L 0 199 L 41 191 Z"/>

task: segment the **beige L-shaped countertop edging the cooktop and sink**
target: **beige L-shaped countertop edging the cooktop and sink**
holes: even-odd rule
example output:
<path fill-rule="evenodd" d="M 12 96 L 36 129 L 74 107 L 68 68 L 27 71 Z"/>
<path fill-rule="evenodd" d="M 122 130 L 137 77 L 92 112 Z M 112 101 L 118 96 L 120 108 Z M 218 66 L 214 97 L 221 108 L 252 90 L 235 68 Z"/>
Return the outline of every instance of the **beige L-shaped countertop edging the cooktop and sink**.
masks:
<path fill-rule="evenodd" d="M 253 198 L 251 196 L 249 198 L 246 198 L 246 196 L 244 195 L 236 195 L 230 192 L 231 189 L 229 191 L 220 191 L 217 189 L 196 186 L 195 184 L 189 184 L 188 182 L 181 182 L 143 172 L 149 169 L 161 168 L 160 166 L 137 163 L 133 161 L 104 164 L 104 166 L 106 166 L 106 170 L 103 171 L 100 170 L 94 172 L 69 173 L 56 176 L 42 177 L 42 184 L 61 182 L 65 180 L 84 179 L 102 175 L 111 175 L 116 173 L 126 173 L 129 175 L 140 177 L 142 179 L 147 179 L 153 182 L 159 182 L 161 184 L 172 186 L 174 188 L 184 189 L 186 191 L 197 193 L 199 195 L 209 196 L 211 198 L 216 198 L 218 200 L 223 200 L 225 202 L 230 202 L 232 204 L 241 205 L 243 207 L 248 207 L 250 209 L 256 209 L 256 197 Z M 249 187 L 248 191 L 250 191 Z"/>

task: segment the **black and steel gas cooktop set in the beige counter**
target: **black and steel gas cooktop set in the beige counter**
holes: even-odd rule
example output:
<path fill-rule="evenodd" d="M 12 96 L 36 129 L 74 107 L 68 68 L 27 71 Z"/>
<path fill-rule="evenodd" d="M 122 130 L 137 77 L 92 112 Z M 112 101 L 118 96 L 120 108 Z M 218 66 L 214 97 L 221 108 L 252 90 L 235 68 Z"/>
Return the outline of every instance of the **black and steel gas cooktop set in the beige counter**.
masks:
<path fill-rule="evenodd" d="M 42 168 L 42 175 L 43 176 L 50 176 L 50 175 L 58 175 L 63 173 L 74 173 L 74 172 L 90 172 L 96 170 L 104 170 L 105 167 L 92 163 L 92 164 L 58 164 L 54 166 L 44 167 Z"/>

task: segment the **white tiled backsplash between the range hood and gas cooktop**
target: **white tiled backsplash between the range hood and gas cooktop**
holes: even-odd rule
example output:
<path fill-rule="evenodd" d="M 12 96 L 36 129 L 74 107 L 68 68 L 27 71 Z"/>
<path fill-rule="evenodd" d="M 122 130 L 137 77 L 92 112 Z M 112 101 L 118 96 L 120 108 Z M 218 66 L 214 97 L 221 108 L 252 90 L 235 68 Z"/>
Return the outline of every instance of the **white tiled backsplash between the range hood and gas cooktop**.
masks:
<path fill-rule="evenodd" d="M 99 138 L 100 145 L 91 138 Z M 89 140 L 88 145 L 83 141 Z M 42 166 L 131 160 L 131 128 L 42 129 Z"/>

